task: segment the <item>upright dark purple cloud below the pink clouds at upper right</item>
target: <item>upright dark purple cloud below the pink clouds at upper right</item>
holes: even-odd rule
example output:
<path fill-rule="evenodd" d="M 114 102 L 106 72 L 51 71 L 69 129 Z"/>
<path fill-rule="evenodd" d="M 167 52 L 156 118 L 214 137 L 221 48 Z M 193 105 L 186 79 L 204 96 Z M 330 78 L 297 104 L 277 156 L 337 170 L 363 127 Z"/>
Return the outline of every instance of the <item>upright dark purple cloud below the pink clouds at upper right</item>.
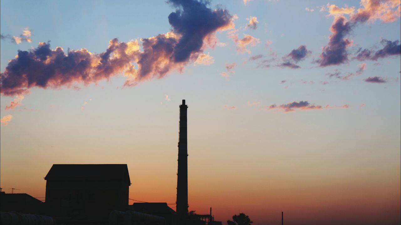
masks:
<path fill-rule="evenodd" d="M 329 42 L 323 48 L 320 59 L 317 61 L 320 66 L 338 65 L 348 61 L 347 47 L 352 41 L 345 38 L 351 31 L 351 24 L 344 16 L 334 18 L 330 31 L 333 33 L 329 37 Z"/>

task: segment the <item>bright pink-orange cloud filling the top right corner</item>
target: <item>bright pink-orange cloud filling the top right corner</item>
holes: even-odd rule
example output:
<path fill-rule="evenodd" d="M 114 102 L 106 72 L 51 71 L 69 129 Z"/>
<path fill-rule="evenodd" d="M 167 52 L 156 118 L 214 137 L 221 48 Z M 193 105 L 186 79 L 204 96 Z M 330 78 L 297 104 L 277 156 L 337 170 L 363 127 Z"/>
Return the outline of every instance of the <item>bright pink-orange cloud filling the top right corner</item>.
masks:
<path fill-rule="evenodd" d="M 363 8 L 351 15 L 350 19 L 355 22 L 394 22 L 401 16 L 401 2 L 399 0 L 361 0 Z"/>

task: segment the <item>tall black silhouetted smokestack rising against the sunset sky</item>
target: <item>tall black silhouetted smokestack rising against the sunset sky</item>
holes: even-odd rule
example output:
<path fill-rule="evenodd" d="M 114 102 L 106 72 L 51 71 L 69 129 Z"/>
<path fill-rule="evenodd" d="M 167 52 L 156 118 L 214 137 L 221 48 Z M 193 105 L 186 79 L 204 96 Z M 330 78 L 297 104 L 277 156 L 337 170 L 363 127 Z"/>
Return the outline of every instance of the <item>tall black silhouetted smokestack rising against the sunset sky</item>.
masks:
<path fill-rule="evenodd" d="M 188 215 L 188 144 L 186 134 L 185 100 L 180 105 L 180 132 L 178 138 L 178 173 L 177 173 L 177 214 L 179 225 L 184 225 Z"/>

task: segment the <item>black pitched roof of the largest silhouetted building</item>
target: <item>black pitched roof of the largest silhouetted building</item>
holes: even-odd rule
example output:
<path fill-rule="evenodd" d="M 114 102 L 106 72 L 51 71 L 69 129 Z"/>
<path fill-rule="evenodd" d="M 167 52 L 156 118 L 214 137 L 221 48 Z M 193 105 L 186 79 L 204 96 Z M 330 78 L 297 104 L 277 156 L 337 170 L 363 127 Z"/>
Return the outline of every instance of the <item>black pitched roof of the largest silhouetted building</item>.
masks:
<path fill-rule="evenodd" d="M 45 180 L 54 178 L 124 179 L 131 183 L 127 164 L 53 164 Z"/>

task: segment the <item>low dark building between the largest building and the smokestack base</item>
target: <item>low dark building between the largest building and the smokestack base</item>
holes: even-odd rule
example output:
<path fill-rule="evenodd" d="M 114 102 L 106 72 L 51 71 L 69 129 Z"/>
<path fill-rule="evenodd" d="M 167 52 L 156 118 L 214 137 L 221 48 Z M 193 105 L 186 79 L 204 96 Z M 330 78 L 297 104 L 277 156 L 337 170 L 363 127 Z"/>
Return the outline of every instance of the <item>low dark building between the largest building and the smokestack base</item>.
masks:
<path fill-rule="evenodd" d="M 166 225 L 177 224 L 177 213 L 167 203 L 134 203 L 132 209 L 136 212 L 164 217 Z"/>

